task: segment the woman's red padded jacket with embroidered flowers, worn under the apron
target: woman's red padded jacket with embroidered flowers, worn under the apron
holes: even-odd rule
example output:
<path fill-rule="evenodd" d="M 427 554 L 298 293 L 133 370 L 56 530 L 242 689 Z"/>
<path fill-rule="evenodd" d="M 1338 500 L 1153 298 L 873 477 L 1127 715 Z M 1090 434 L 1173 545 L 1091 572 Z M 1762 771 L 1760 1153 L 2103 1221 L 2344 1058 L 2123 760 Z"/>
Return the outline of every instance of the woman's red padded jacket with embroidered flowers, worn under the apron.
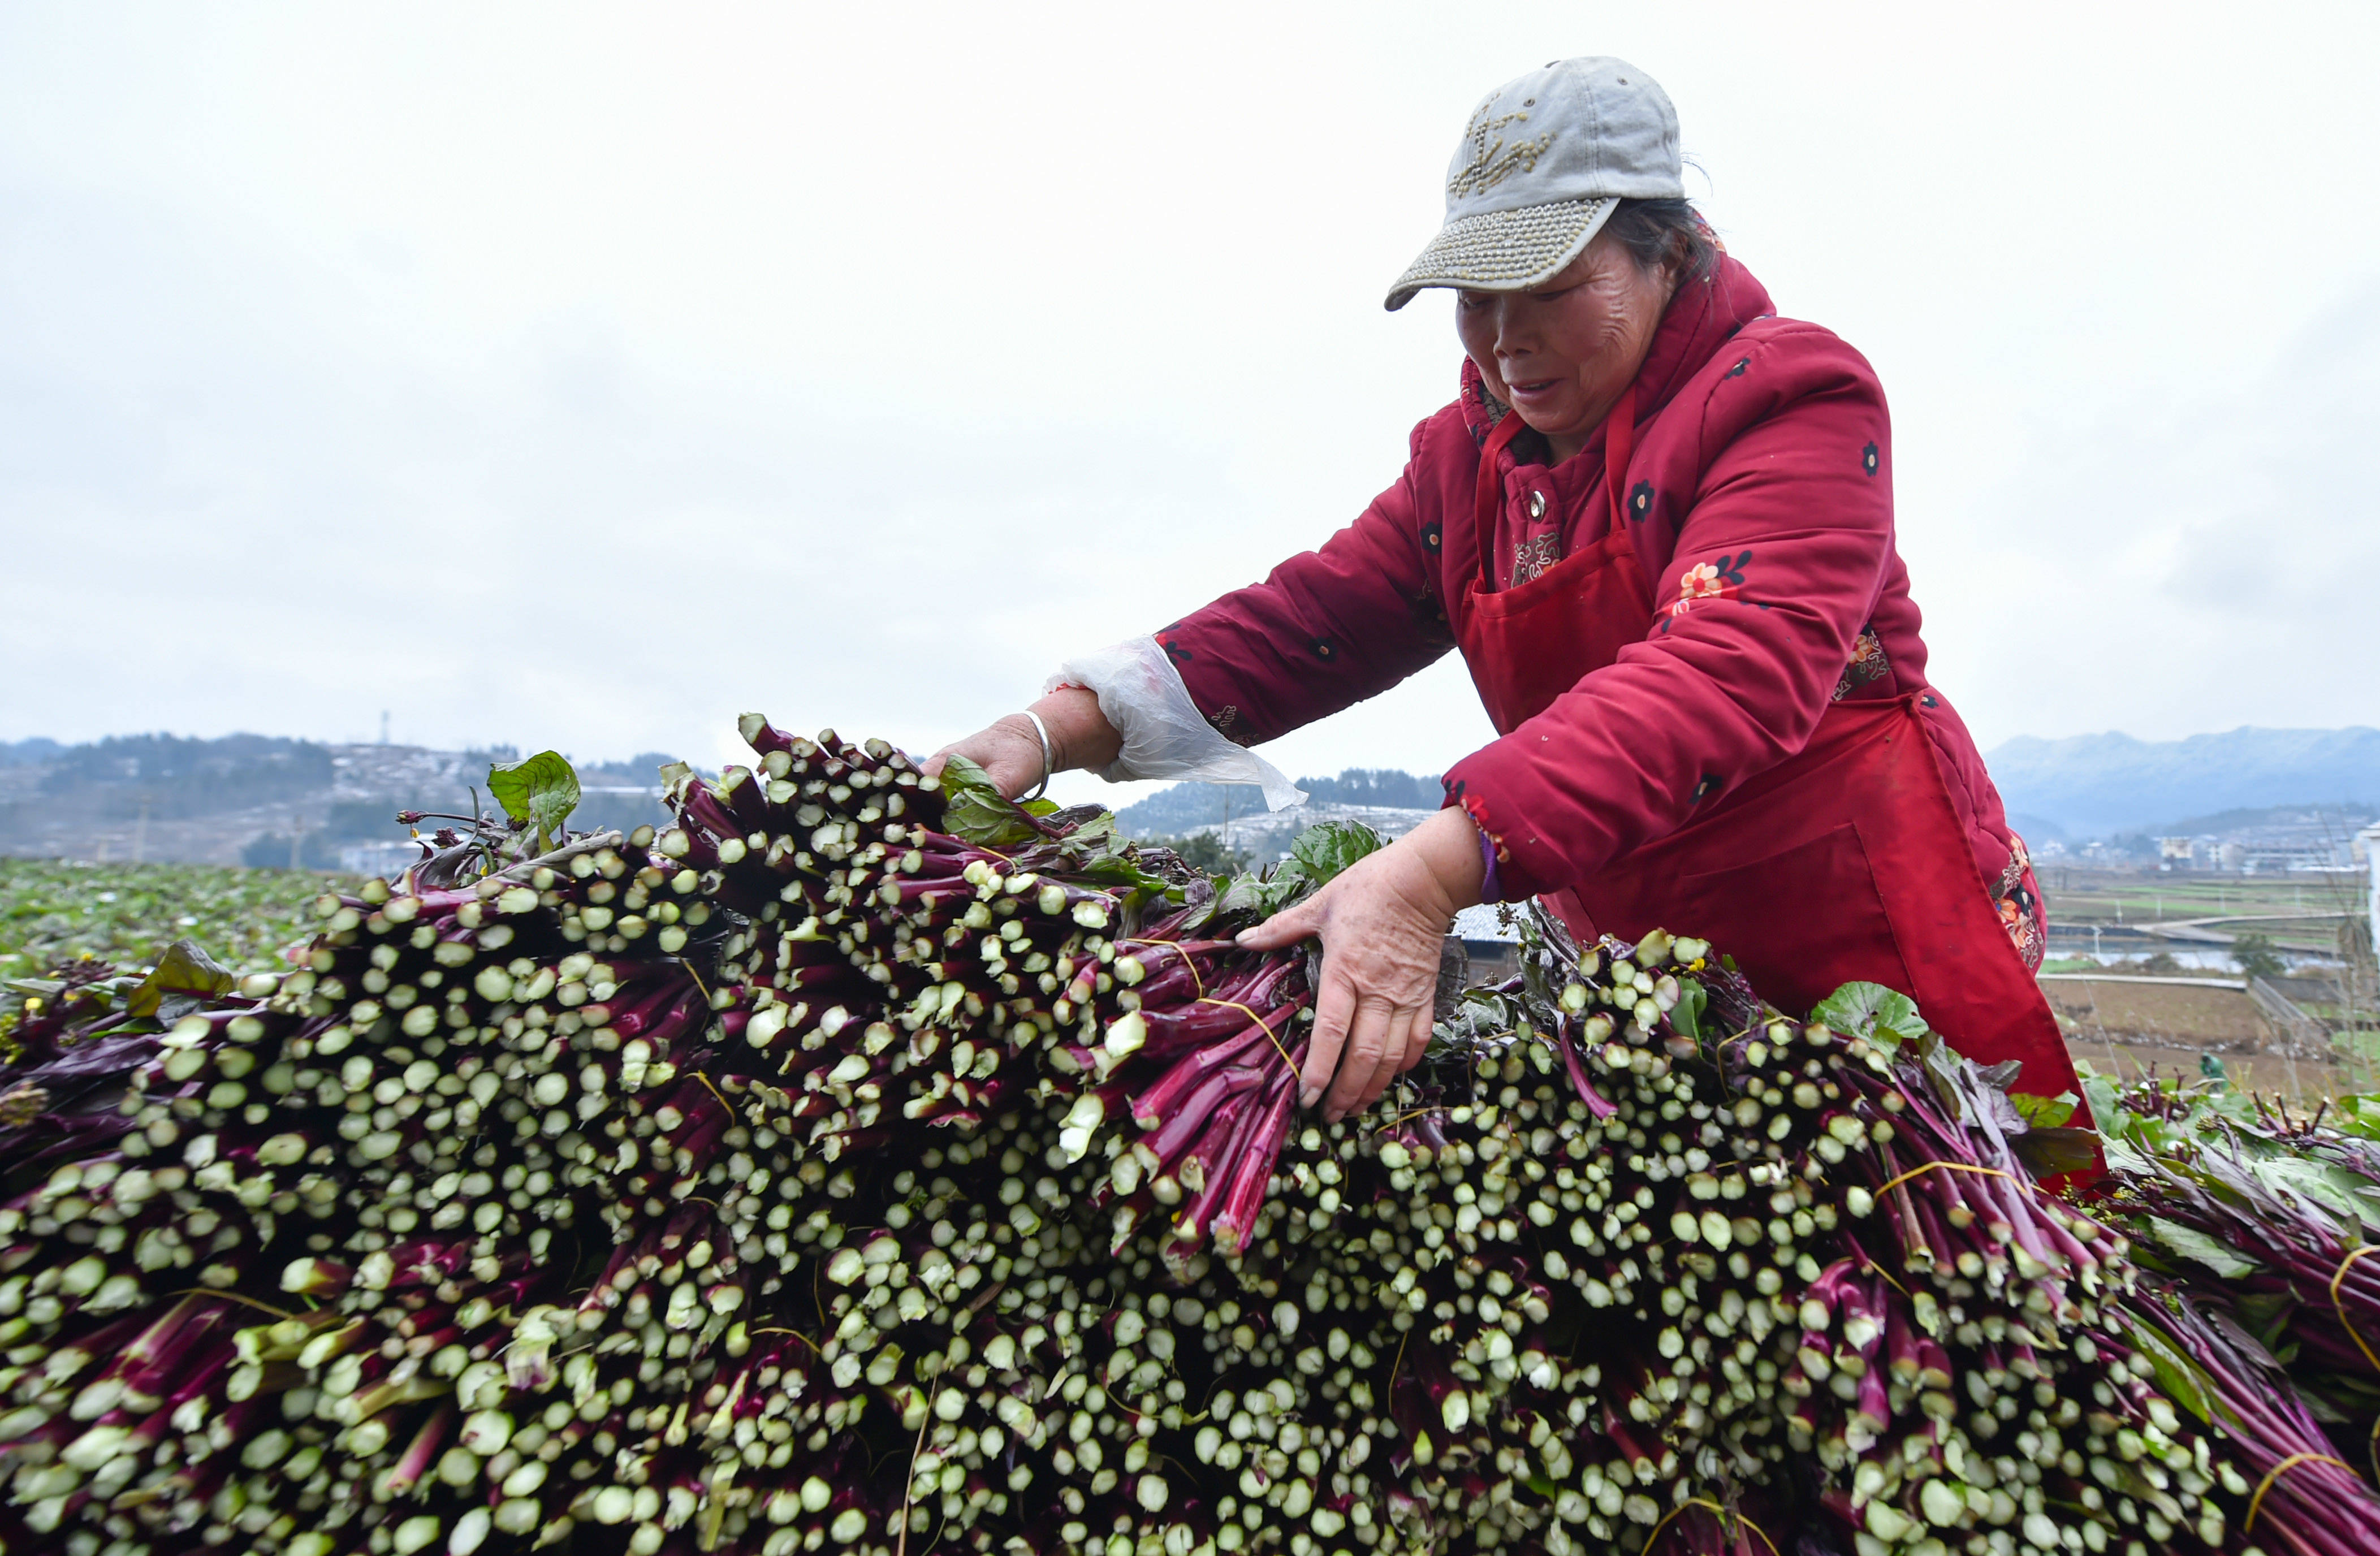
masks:
<path fill-rule="evenodd" d="M 1476 502 L 1480 447 L 1504 414 L 1466 359 L 1461 395 L 1414 428 L 1404 476 L 1354 523 L 1157 633 L 1214 728 L 1271 740 L 1454 647 L 1445 600 L 1478 557 L 1445 554 L 1445 521 Z M 1866 357 L 1778 319 L 1723 257 L 1661 316 L 1637 423 L 1628 509 L 1654 581 L 1645 638 L 1447 773 L 1497 845 L 1502 895 L 1585 880 L 1664 837 L 1799 752 L 1833 699 L 1918 692 L 1980 883 L 2037 961 L 2023 845 L 1973 738 L 1925 680 L 1892 538 L 1892 431 Z M 1545 459 L 1535 433 L 1502 454 L 1490 588 L 1609 531 L 1602 433 L 1564 464 Z"/>

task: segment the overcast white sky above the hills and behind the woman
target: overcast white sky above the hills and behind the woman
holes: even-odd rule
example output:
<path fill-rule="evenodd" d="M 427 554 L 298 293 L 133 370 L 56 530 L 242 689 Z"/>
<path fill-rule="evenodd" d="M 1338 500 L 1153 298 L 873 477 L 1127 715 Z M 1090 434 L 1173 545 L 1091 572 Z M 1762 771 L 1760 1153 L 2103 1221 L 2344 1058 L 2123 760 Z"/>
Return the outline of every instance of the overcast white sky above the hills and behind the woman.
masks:
<path fill-rule="evenodd" d="M 1492 24 L 1490 24 L 1492 17 Z M 2380 723 L 2370 5 L 0 10 L 0 738 L 931 749 L 1319 542 L 1614 52 L 1892 395 L 1985 747 Z M 1292 773 L 1438 771 L 1457 661 Z M 1090 780 L 1083 780 L 1088 788 Z M 1085 790 L 1088 792 L 1088 790 Z"/>

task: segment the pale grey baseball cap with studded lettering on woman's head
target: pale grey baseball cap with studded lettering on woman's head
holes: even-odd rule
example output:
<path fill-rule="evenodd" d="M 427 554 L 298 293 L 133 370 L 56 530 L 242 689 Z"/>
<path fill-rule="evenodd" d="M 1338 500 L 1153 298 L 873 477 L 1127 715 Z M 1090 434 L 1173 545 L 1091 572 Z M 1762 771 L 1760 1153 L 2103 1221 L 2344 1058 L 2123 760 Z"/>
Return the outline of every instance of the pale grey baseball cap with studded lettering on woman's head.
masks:
<path fill-rule="evenodd" d="M 1447 224 L 1388 288 L 1518 293 L 1587 247 L 1621 200 L 1683 200 L 1678 109 L 1661 83 L 1609 55 L 1554 59 L 1471 109 L 1447 164 Z"/>

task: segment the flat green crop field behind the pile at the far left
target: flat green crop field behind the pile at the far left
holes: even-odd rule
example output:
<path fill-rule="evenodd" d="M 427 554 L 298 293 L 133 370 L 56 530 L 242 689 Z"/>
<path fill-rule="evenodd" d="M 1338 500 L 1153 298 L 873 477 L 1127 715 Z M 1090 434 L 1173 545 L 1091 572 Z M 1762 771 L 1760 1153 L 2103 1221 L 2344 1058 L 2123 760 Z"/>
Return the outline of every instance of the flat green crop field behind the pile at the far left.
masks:
<path fill-rule="evenodd" d="M 0 859 L 0 978 L 31 978 L 86 954 L 148 966 L 176 940 L 195 940 L 240 973 L 278 971 L 281 947 L 314 933 L 307 904 L 357 885 L 217 864 Z"/>

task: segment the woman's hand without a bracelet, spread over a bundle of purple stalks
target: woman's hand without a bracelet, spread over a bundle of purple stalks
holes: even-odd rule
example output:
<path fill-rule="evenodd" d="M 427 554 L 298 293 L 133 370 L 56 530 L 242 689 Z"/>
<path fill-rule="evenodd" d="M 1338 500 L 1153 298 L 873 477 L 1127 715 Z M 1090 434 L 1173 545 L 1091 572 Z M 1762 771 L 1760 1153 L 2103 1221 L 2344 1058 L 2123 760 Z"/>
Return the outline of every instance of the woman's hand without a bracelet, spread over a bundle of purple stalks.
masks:
<path fill-rule="evenodd" d="M 1449 807 L 1297 906 L 1240 933 L 1240 945 L 1259 952 L 1309 935 L 1323 942 L 1302 1106 L 1323 1102 L 1326 1118 L 1345 1118 L 1421 1061 L 1447 923 L 1480 899 L 1485 868 L 1478 828 Z"/>

